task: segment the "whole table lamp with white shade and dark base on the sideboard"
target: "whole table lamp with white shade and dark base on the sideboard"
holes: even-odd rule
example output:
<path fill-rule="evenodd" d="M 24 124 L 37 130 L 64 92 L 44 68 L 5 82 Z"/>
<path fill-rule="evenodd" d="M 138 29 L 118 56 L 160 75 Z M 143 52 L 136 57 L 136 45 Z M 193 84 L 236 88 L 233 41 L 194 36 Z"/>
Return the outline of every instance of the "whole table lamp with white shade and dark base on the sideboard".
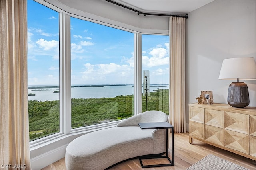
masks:
<path fill-rule="evenodd" d="M 237 57 L 224 59 L 219 79 L 237 80 L 228 87 L 228 104 L 232 107 L 246 107 L 249 105 L 247 84 L 240 80 L 256 80 L 256 64 L 253 57 Z"/>

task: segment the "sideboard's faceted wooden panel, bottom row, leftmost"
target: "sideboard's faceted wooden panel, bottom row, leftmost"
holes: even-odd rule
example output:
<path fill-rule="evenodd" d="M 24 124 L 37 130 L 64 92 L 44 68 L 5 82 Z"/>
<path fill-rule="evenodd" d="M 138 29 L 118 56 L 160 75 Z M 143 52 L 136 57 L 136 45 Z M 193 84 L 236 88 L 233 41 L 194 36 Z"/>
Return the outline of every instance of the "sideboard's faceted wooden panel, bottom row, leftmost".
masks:
<path fill-rule="evenodd" d="M 189 121 L 189 135 L 204 139 L 204 124 Z"/>

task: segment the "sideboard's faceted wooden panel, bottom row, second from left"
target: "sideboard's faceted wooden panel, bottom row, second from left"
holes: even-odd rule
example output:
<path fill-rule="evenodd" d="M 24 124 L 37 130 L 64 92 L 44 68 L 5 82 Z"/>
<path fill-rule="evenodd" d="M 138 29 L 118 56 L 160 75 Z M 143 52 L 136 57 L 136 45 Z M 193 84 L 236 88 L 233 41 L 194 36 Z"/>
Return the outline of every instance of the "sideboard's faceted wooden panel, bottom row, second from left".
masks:
<path fill-rule="evenodd" d="M 224 129 L 205 125 L 205 140 L 224 147 Z"/>

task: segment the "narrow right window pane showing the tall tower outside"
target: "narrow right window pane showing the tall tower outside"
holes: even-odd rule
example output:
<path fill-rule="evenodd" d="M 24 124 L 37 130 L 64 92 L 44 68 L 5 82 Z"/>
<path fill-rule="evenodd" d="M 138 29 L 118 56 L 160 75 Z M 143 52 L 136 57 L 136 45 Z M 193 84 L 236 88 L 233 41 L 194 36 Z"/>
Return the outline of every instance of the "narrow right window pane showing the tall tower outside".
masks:
<path fill-rule="evenodd" d="M 142 35 L 142 111 L 169 114 L 169 36 Z"/>

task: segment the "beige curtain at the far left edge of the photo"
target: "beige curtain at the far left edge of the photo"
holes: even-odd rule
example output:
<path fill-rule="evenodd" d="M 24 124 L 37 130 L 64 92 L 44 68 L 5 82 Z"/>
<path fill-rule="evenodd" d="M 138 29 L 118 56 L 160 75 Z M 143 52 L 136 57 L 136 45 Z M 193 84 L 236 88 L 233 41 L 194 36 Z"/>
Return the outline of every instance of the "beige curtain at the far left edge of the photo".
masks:
<path fill-rule="evenodd" d="M 26 0 L 0 0 L 0 166 L 31 169 Z"/>

